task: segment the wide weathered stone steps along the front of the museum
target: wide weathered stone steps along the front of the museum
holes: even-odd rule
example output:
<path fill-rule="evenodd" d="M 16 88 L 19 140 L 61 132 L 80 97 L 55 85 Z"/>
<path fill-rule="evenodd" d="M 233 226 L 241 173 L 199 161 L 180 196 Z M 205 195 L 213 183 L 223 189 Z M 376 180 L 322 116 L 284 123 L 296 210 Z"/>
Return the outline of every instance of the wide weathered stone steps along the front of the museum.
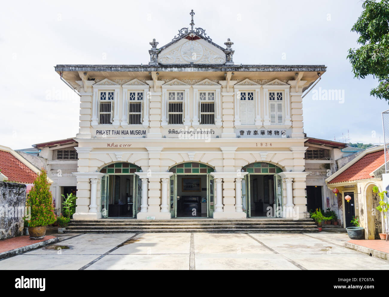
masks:
<path fill-rule="evenodd" d="M 72 220 L 66 233 L 151 233 L 151 232 L 318 232 L 312 219 L 98 219 Z"/>

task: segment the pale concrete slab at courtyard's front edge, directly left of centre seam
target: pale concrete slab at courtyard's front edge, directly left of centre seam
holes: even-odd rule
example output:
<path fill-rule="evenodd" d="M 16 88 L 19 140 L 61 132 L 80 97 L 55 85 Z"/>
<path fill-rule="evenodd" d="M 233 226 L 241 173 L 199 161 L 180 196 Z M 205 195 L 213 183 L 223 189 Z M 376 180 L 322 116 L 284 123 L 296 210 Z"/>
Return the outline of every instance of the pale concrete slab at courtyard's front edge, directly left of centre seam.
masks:
<path fill-rule="evenodd" d="M 86 270 L 188 270 L 189 254 L 106 255 Z"/>

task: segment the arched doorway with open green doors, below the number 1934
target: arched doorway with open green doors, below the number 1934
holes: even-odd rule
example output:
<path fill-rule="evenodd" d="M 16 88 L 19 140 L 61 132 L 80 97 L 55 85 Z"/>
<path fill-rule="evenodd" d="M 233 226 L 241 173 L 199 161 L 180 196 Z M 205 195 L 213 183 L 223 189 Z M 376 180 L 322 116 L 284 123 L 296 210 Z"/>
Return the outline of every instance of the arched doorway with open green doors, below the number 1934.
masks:
<path fill-rule="evenodd" d="M 282 169 L 266 162 L 242 168 L 242 205 L 247 217 L 282 217 Z"/>

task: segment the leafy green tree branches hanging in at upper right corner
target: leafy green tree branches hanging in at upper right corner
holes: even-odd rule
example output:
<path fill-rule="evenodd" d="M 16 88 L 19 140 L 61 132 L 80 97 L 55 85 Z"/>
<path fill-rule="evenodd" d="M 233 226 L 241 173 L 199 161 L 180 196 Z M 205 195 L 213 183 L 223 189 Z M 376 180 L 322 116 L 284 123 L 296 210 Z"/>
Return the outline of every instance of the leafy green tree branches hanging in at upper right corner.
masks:
<path fill-rule="evenodd" d="M 349 49 L 347 58 L 356 78 L 373 75 L 378 86 L 370 95 L 389 100 L 389 0 L 366 0 L 363 12 L 352 27 L 359 33 L 360 48 Z"/>

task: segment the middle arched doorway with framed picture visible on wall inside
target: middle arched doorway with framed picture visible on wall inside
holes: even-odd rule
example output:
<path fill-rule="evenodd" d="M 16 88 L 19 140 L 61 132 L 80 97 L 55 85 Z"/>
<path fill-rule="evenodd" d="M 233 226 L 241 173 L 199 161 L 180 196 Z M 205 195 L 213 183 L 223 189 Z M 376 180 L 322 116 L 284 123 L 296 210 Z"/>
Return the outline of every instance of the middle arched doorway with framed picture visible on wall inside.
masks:
<path fill-rule="evenodd" d="M 214 212 L 214 168 L 197 162 L 180 163 L 169 169 L 172 217 L 212 217 Z"/>

